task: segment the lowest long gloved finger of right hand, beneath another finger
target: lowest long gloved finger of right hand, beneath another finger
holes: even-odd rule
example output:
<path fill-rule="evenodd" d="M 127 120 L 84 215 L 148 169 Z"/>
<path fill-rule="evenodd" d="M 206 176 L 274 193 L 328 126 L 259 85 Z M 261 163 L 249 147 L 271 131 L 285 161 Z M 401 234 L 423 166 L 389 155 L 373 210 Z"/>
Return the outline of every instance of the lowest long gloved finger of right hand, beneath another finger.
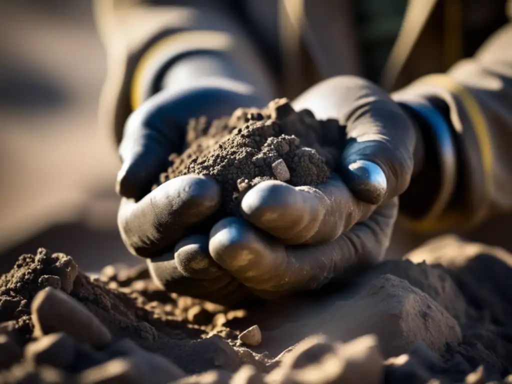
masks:
<path fill-rule="evenodd" d="M 224 219 L 210 232 L 209 250 L 217 263 L 262 296 L 317 289 L 382 259 L 397 207 L 393 199 L 334 241 L 311 246 L 285 247 L 242 219 Z"/>

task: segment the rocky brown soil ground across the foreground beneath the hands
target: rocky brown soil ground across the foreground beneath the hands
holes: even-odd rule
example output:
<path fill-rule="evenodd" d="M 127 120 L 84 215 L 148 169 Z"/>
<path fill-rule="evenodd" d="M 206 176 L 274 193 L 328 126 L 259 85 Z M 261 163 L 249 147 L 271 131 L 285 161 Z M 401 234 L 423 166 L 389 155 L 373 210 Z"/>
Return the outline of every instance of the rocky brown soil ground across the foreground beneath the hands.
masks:
<path fill-rule="evenodd" d="M 347 283 L 227 309 L 160 290 L 145 266 L 91 279 L 39 249 L 0 278 L 0 382 L 506 382 L 512 372 L 505 251 L 441 238 Z"/>

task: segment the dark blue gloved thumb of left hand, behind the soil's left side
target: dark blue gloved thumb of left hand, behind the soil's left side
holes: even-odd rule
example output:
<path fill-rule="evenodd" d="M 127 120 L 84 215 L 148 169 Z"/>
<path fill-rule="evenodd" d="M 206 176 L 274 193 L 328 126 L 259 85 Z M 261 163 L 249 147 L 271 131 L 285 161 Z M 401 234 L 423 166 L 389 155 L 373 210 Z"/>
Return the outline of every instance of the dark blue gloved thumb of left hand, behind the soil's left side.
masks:
<path fill-rule="evenodd" d="M 119 154 L 118 193 L 141 199 L 165 169 L 172 153 L 181 153 L 185 127 L 192 117 L 216 119 L 239 106 L 261 104 L 261 99 L 237 82 L 215 82 L 195 88 L 164 90 L 147 99 L 126 121 Z"/>

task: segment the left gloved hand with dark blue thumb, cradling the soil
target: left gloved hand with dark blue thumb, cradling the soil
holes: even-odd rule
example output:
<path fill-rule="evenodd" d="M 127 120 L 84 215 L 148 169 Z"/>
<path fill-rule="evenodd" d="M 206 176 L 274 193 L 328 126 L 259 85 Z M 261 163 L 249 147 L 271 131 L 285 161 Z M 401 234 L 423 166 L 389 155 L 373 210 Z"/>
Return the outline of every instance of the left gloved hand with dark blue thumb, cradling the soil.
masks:
<path fill-rule="evenodd" d="M 119 147 L 122 166 L 116 183 L 122 197 L 119 231 L 134 255 L 171 259 L 166 263 L 165 274 L 172 281 L 174 292 L 205 298 L 229 296 L 226 290 L 230 289 L 232 278 L 209 258 L 210 228 L 201 228 L 220 205 L 220 187 L 211 178 L 195 175 L 169 180 L 153 191 L 151 186 L 165 169 L 168 156 L 182 151 L 189 118 L 214 119 L 231 114 L 239 106 L 263 104 L 248 88 L 218 82 L 215 86 L 182 91 L 164 90 L 143 103 L 126 121 Z M 208 255 L 204 258 L 206 264 L 202 252 Z M 183 261 L 181 270 L 175 255 Z"/>

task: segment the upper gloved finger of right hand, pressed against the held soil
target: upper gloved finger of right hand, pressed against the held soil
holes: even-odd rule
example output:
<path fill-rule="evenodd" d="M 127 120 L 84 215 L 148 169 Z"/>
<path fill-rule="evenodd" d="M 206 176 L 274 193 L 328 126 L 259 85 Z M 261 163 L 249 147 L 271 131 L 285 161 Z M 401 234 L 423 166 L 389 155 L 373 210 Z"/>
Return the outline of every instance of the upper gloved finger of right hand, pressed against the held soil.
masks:
<path fill-rule="evenodd" d="M 265 181 L 249 190 L 241 203 L 248 221 L 293 245 L 334 240 L 374 209 L 355 199 L 335 174 L 316 188 Z"/>

